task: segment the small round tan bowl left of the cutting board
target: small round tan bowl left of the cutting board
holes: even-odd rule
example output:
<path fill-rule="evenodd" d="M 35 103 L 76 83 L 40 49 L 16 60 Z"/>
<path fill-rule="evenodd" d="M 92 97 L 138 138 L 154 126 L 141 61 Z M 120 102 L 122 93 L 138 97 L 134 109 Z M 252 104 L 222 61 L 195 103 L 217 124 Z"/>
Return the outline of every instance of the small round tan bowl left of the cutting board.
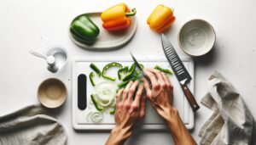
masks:
<path fill-rule="evenodd" d="M 60 107 L 67 98 L 65 84 L 55 78 L 43 81 L 38 87 L 38 100 L 45 107 L 55 109 Z"/>

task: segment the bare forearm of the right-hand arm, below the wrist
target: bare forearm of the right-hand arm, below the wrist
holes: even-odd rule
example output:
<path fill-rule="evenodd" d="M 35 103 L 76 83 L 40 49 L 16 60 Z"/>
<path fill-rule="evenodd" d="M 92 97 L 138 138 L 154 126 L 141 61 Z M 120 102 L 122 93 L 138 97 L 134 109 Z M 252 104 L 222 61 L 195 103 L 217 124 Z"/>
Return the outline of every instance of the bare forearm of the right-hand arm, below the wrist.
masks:
<path fill-rule="evenodd" d="M 166 120 L 168 128 L 172 133 L 173 140 L 176 145 L 195 145 L 196 142 L 189 134 L 186 126 L 183 124 L 177 109 L 171 109 L 169 114 L 169 120 Z"/>

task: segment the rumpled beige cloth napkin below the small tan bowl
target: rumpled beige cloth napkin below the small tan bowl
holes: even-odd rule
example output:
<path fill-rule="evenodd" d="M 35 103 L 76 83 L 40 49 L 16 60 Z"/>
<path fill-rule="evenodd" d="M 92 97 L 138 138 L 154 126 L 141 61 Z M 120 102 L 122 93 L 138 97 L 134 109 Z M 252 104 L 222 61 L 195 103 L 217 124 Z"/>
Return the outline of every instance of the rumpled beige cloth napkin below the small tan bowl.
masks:
<path fill-rule="evenodd" d="M 63 145 L 67 134 L 40 105 L 28 106 L 0 117 L 0 145 Z"/>

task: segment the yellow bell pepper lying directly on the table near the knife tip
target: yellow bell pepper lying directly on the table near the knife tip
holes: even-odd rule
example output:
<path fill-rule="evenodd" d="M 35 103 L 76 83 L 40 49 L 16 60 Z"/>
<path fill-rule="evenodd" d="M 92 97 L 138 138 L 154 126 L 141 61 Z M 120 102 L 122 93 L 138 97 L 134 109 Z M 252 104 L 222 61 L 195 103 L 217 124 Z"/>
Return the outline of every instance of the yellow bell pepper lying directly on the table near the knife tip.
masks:
<path fill-rule="evenodd" d="M 160 4 L 149 15 L 147 23 L 152 30 L 163 32 L 172 25 L 175 19 L 173 9 Z"/>

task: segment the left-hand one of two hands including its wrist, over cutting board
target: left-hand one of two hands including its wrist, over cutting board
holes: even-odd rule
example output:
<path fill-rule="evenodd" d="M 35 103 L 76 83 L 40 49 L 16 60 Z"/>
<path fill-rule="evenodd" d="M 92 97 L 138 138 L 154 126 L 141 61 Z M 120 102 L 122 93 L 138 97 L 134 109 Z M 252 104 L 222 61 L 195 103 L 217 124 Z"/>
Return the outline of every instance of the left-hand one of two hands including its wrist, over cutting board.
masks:
<path fill-rule="evenodd" d="M 106 142 L 106 144 L 111 145 L 123 144 L 131 136 L 132 130 L 143 119 L 145 114 L 143 85 L 139 86 L 138 81 L 130 81 L 125 89 L 119 90 L 116 95 L 116 101 L 114 114 L 116 126 L 111 131 L 111 135 Z"/>

